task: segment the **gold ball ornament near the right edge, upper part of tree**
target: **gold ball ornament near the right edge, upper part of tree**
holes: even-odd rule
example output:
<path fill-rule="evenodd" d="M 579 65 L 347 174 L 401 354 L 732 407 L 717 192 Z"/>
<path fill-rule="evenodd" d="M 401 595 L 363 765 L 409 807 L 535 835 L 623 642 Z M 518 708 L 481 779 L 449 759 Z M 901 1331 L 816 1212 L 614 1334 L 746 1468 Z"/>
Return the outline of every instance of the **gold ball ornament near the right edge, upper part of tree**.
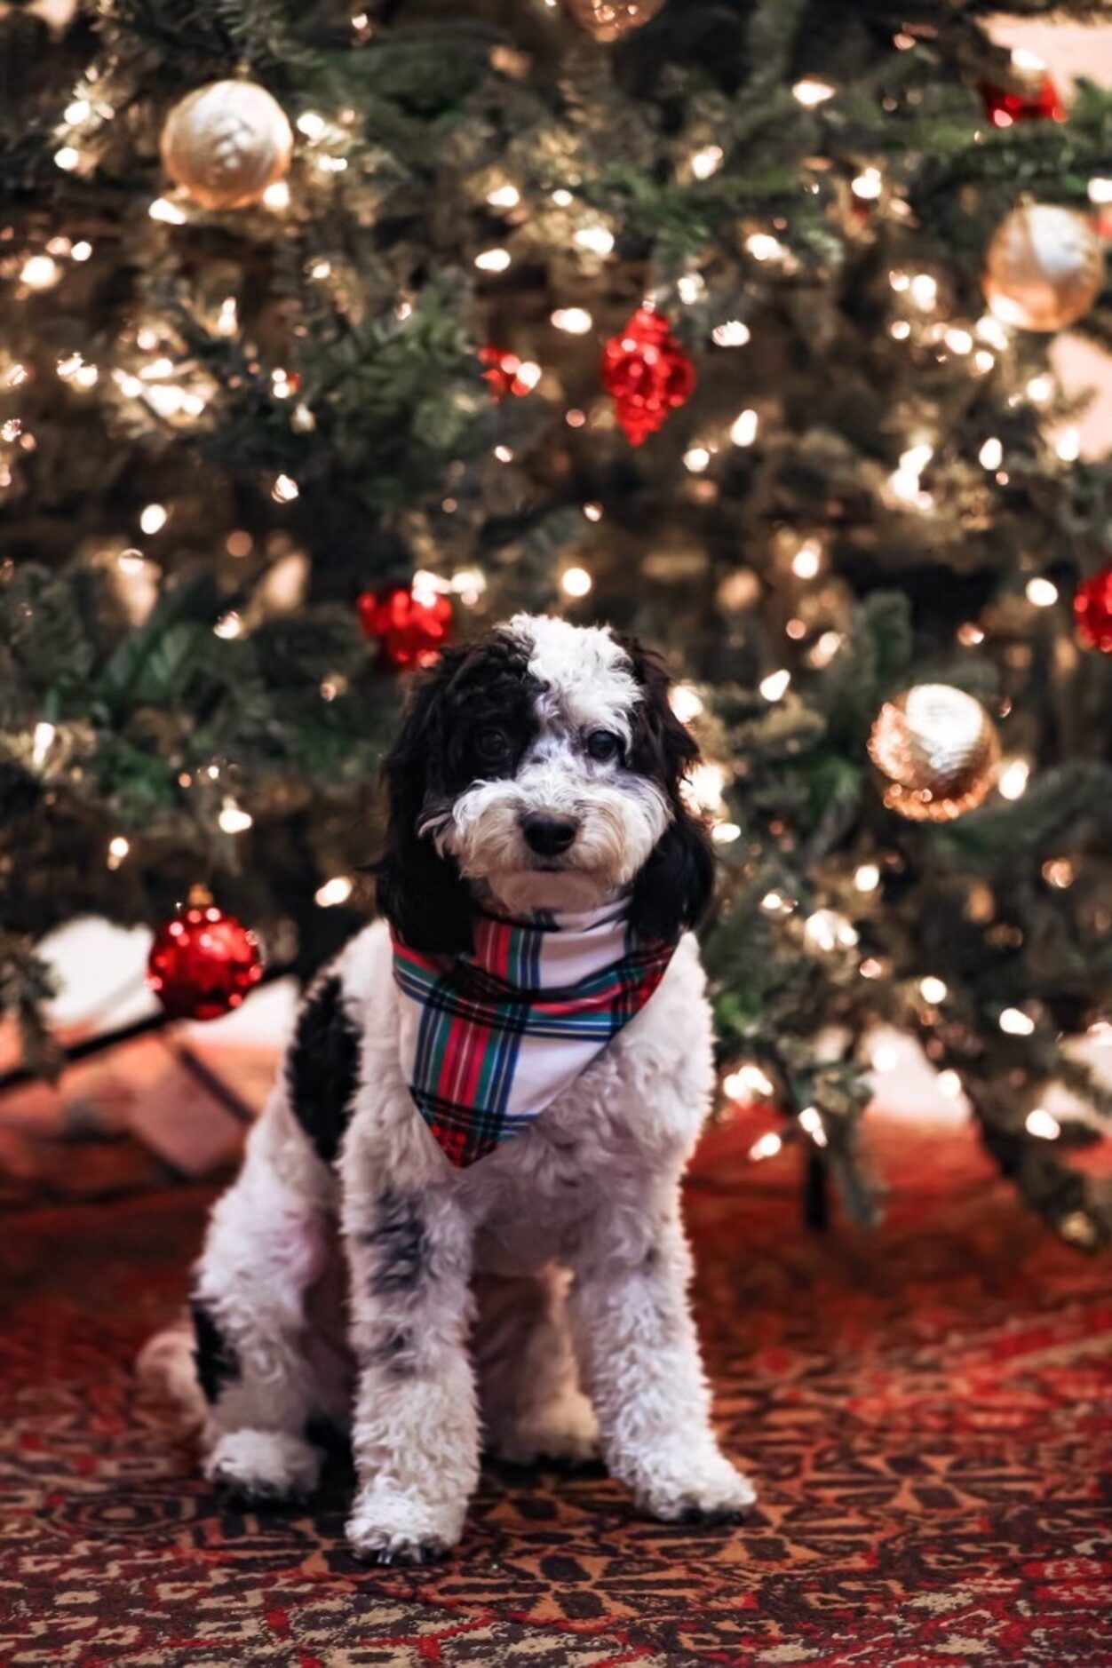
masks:
<path fill-rule="evenodd" d="M 1014 208 L 989 244 L 984 290 L 1002 324 L 1064 330 L 1089 312 L 1102 285 L 1100 237 L 1077 208 Z"/>

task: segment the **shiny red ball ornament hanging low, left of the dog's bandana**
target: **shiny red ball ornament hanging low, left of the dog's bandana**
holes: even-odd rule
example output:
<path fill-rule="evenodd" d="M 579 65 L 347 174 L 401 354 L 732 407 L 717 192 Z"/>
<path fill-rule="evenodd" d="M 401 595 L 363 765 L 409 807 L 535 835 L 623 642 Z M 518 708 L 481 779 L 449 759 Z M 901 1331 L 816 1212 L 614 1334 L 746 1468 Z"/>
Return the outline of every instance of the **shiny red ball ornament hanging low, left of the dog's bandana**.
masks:
<path fill-rule="evenodd" d="M 172 1019 L 218 1019 L 262 979 L 258 939 L 215 904 L 190 904 L 155 936 L 147 984 Z"/>

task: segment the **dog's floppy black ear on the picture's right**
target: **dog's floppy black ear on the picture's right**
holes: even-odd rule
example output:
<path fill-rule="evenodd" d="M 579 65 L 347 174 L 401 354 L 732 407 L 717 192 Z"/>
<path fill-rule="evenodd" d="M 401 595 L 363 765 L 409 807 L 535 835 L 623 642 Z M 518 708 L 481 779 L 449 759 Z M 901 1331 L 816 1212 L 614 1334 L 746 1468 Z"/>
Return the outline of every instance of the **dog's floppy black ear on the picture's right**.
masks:
<path fill-rule="evenodd" d="M 669 706 L 672 679 L 659 656 L 635 639 L 619 639 L 634 664 L 642 699 L 634 709 L 630 764 L 664 787 L 672 821 L 634 881 L 630 924 L 640 939 L 674 942 L 699 924 L 714 896 L 714 846 L 680 784 L 699 759 L 699 744 Z"/>

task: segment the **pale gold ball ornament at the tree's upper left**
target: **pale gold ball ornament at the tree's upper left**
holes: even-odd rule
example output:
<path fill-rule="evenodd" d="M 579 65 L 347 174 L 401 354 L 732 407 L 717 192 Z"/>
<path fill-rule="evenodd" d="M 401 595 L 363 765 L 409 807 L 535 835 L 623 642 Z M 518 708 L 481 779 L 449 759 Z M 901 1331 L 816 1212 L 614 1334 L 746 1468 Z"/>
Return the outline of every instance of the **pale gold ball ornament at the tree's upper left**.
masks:
<path fill-rule="evenodd" d="M 255 82 L 208 82 L 187 93 L 162 130 L 162 162 L 203 208 L 242 208 L 283 178 L 293 130 Z"/>

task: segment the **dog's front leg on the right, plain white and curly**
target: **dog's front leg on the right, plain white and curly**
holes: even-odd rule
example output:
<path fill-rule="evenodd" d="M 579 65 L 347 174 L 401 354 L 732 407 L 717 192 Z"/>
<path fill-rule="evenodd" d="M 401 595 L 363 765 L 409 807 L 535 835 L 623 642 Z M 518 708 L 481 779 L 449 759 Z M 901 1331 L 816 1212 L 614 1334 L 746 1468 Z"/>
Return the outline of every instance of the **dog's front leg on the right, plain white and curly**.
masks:
<path fill-rule="evenodd" d="M 710 1428 L 679 1198 L 607 1211 L 575 1256 L 572 1321 L 614 1476 L 667 1521 L 740 1516 L 754 1486 Z"/>

